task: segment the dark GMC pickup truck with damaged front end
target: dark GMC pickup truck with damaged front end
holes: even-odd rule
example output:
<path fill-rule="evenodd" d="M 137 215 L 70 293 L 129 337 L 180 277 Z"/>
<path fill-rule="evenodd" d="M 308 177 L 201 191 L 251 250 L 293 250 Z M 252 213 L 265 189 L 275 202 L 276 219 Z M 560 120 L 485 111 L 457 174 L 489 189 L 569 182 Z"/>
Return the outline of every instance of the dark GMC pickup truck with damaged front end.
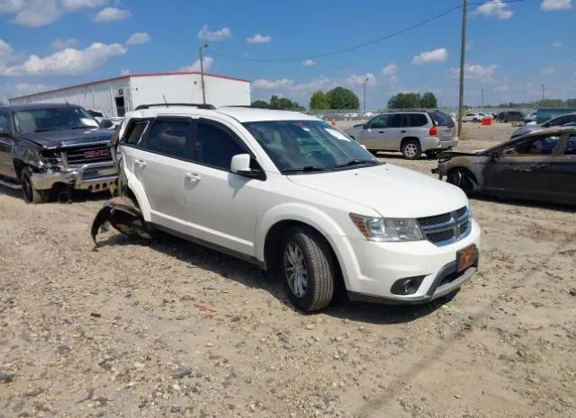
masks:
<path fill-rule="evenodd" d="M 79 106 L 0 106 L 0 184 L 22 189 L 31 203 L 69 201 L 74 190 L 106 191 L 117 177 L 112 134 Z"/>

